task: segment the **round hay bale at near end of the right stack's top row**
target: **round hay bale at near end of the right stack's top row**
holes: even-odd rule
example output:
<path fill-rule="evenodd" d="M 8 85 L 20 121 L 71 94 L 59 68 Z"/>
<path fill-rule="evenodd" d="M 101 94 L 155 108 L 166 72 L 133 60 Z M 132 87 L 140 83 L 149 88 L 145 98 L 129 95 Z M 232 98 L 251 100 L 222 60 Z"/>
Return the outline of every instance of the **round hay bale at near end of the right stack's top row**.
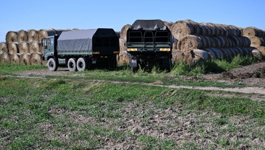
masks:
<path fill-rule="evenodd" d="M 177 40 L 180 40 L 185 35 L 194 33 L 193 25 L 189 21 L 177 21 L 171 26 L 171 33 Z"/>

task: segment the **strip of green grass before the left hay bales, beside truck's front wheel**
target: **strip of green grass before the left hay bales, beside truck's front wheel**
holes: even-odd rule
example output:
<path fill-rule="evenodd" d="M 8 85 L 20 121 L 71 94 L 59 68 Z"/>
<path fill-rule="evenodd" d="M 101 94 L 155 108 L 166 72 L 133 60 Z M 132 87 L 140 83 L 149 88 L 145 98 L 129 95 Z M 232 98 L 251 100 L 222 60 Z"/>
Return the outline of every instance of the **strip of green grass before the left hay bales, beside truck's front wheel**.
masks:
<path fill-rule="evenodd" d="M 10 74 L 17 71 L 46 69 L 44 65 L 18 65 L 14 63 L 0 63 L 0 74 Z"/>

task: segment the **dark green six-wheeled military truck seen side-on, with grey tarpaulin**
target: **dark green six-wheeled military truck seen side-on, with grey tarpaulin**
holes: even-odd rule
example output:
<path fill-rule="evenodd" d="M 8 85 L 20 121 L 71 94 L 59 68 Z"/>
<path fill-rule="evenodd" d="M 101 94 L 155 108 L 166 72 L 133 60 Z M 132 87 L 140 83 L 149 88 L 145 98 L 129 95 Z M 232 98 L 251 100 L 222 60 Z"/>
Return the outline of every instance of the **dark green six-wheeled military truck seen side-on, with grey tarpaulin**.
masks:
<path fill-rule="evenodd" d="M 107 28 L 64 31 L 60 36 L 42 39 L 41 46 L 44 46 L 42 60 L 48 61 L 50 71 L 56 71 L 58 65 L 66 64 L 71 72 L 115 68 L 119 38 L 113 29 Z"/>

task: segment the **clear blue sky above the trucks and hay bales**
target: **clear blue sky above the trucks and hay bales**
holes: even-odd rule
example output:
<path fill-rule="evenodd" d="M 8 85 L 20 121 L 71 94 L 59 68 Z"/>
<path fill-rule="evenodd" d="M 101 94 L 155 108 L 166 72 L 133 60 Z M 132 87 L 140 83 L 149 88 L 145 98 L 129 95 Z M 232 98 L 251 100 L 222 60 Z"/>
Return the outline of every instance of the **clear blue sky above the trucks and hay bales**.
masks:
<path fill-rule="evenodd" d="M 7 0 L 1 1 L 0 42 L 10 30 L 100 27 L 120 31 L 137 19 L 191 19 L 265 30 L 264 6 L 264 0 Z"/>

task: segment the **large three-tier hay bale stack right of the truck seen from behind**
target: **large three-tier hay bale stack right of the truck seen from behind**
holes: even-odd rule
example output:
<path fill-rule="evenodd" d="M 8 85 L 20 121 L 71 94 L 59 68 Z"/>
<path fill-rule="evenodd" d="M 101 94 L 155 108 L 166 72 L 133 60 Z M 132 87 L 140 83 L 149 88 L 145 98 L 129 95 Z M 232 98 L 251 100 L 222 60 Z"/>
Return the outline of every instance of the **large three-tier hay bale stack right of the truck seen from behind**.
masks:
<path fill-rule="evenodd" d="M 248 37 L 242 36 L 242 28 L 232 25 L 184 20 L 175 22 L 171 32 L 178 41 L 172 52 L 183 53 L 184 60 L 191 64 L 210 58 L 244 56 L 253 50 L 256 53 L 257 49 L 250 47 Z M 176 56 L 172 54 L 172 57 L 174 60 Z"/>

